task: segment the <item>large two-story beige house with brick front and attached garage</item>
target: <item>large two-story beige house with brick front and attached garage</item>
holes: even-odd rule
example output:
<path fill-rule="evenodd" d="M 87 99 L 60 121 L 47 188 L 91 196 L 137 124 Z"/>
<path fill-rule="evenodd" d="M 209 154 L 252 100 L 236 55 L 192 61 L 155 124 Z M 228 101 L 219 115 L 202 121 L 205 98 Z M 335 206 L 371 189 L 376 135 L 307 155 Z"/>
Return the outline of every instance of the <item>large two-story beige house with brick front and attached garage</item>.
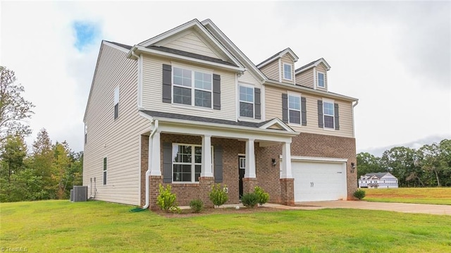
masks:
<path fill-rule="evenodd" d="M 352 198 L 353 107 L 329 92 L 328 63 L 295 69 L 285 49 L 255 66 L 211 20 L 128 46 L 102 41 L 85 111 L 83 185 L 96 199 L 156 207 L 228 203 L 259 185 L 270 202 Z"/>

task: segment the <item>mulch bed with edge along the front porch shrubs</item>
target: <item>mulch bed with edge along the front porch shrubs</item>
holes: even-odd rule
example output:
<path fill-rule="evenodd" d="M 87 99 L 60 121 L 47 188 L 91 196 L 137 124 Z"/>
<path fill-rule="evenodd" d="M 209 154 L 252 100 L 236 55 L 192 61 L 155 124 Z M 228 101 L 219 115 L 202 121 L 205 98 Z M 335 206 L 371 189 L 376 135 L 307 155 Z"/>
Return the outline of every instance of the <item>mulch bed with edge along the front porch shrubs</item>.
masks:
<path fill-rule="evenodd" d="M 166 218 L 184 218 L 184 217 L 192 217 L 192 216 L 204 216 L 211 214 L 250 214 L 250 213 L 261 213 L 264 211 L 281 211 L 280 209 L 265 207 L 265 206 L 256 206 L 254 208 L 247 208 L 240 206 L 240 209 L 235 208 L 204 208 L 200 213 L 193 213 L 191 209 L 183 209 L 180 214 L 166 213 L 161 210 L 153 210 L 155 214 L 160 216 L 164 216 Z"/>

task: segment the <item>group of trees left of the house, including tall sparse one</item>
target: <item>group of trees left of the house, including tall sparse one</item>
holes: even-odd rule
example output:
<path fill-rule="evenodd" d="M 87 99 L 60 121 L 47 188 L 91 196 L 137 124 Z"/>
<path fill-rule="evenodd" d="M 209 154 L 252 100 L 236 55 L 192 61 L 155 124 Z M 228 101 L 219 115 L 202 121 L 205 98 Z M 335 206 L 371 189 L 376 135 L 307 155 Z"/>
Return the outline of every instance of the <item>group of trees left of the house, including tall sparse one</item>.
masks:
<path fill-rule="evenodd" d="M 15 73 L 0 71 L 0 202 L 68 199 L 73 185 L 82 185 L 82 152 L 66 141 L 53 144 L 45 129 L 29 152 L 25 137 L 32 131 L 25 120 L 34 105 L 22 97 Z"/>

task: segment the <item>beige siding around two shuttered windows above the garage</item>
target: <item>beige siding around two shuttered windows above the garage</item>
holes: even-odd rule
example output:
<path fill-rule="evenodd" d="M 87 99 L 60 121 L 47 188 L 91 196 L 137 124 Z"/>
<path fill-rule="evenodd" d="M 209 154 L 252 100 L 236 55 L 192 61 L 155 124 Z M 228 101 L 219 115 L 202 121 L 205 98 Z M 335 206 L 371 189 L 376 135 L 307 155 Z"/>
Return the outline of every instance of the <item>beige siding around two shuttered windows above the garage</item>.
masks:
<path fill-rule="evenodd" d="M 275 87 L 265 87 L 266 118 L 282 119 L 282 94 L 286 90 Z M 294 92 L 290 92 L 292 94 Z M 340 108 L 340 130 L 324 130 L 318 127 L 318 100 L 322 97 L 311 94 L 299 93 L 306 98 L 307 125 L 288 124 L 299 132 L 309 132 L 321 135 L 333 135 L 340 137 L 354 137 L 352 125 L 352 103 L 335 99 Z M 330 99 L 331 100 L 331 99 Z"/>

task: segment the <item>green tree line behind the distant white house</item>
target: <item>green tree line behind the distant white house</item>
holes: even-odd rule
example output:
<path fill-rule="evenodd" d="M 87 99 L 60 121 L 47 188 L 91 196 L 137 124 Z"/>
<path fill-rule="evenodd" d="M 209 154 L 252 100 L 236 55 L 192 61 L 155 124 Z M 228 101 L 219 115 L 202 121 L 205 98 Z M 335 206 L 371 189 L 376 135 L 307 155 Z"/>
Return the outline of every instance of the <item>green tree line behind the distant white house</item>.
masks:
<path fill-rule="evenodd" d="M 451 186 L 451 140 L 424 144 L 419 149 L 393 147 L 381 157 L 357 154 L 357 176 L 390 172 L 400 187 Z"/>

